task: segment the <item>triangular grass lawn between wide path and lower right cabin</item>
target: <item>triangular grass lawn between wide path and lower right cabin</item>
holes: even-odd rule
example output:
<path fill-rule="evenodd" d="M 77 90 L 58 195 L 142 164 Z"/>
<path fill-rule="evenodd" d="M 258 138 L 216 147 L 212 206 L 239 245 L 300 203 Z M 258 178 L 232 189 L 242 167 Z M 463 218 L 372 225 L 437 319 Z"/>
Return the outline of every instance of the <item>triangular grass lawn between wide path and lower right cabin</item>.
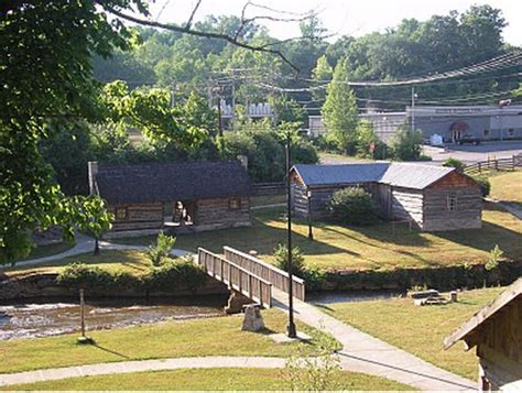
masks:
<path fill-rule="evenodd" d="M 444 350 L 443 340 L 503 288 L 475 290 L 459 293 L 459 302 L 446 306 L 413 305 L 410 298 L 319 306 L 391 345 L 470 380 L 476 380 L 478 358 L 474 350 L 464 351 L 459 342 Z M 377 317 L 378 316 L 378 317 Z"/>

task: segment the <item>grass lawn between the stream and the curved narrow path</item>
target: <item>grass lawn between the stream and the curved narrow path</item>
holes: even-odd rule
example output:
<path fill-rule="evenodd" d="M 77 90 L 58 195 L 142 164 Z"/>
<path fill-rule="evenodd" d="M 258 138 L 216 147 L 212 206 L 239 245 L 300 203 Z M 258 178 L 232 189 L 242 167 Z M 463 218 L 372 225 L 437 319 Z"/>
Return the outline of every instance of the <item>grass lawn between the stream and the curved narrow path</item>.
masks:
<path fill-rule="evenodd" d="M 0 373 L 138 359 L 294 353 L 297 343 L 279 345 L 267 336 L 285 331 L 283 313 L 265 310 L 263 318 L 264 334 L 241 331 L 242 318 L 229 316 L 89 331 L 94 346 L 77 345 L 77 334 L 0 341 L 0 358 L 9 359 L 1 362 Z M 304 324 L 297 326 L 312 337 L 322 335 Z M 307 348 L 314 353 L 315 340 Z"/>

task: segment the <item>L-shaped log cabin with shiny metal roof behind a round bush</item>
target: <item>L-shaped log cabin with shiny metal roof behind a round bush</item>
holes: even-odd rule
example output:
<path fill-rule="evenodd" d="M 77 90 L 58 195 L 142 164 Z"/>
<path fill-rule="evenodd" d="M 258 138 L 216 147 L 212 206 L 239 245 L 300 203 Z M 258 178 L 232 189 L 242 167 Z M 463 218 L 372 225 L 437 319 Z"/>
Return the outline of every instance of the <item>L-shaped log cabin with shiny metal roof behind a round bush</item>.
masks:
<path fill-rule="evenodd" d="M 409 221 L 425 231 L 482 225 L 479 185 L 453 167 L 389 162 L 297 164 L 291 182 L 294 214 L 312 220 L 328 218 L 327 203 L 336 190 L 361 187 L 387 220 Z"/>

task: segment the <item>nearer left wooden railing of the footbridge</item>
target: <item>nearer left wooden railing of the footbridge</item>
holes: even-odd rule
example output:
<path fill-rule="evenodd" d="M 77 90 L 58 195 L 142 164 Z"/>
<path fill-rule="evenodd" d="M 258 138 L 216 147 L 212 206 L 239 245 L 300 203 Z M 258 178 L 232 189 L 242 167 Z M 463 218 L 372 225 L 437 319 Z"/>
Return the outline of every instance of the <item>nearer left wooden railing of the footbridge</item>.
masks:
<path fill-rule="evenodd" d="M 197 263 L 205 269 L 207 274 L 264 308 L 272 306 L 272 284 L 259 275 L 202 248 L 197 249 Z"/>

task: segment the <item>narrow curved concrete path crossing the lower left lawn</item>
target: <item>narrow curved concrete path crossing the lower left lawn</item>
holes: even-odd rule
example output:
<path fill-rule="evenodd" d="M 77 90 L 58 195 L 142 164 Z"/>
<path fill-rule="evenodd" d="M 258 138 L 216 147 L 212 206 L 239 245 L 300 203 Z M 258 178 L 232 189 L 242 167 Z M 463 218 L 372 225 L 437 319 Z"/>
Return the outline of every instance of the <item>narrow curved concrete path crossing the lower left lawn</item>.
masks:
<path fill-rule="evenodd" d="M 129 372 L 208 368 L 281 369 L 284 368 L 284 364 L 285 359 L 270 357 L 196 357 L 135 360 L 0 374 L 0 386 Z"/>

